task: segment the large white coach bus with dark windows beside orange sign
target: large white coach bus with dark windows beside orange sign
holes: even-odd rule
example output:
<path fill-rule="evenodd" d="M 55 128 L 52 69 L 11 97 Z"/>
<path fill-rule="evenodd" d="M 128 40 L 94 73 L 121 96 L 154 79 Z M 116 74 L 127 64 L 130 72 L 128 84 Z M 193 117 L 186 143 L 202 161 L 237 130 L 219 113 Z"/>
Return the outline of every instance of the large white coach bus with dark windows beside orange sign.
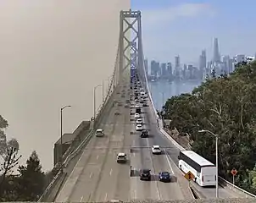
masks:
<path fill-rule="evenodd" d="M 216 167 L 194 151 L 181 151 L 179 167 L 184 173 L 191 172 L 193 179 L 200 186 L 216 185 Z"/>

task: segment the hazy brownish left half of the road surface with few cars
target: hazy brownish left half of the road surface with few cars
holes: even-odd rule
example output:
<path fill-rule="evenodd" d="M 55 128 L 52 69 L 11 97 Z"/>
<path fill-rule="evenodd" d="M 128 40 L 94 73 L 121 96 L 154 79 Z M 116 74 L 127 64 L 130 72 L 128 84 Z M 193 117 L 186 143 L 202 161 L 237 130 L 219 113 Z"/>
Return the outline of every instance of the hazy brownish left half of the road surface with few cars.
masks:
<path fill-rule="evenodd" d="M 130 89 L 129 85 L 127 89 Z M 123 105 L 129 98 L 129 91 L 125 92 L 124 98 L 121 94 L 115 96 Z M 115 104 L 105 116 L 100 129 L 106 135 L 92 137 L 55 201 L 129 200 L 130 162 L 116 162 L 117 153 L 125 152 L 129 156 L 131 147 L 130 108 L 123 105 Z"/>

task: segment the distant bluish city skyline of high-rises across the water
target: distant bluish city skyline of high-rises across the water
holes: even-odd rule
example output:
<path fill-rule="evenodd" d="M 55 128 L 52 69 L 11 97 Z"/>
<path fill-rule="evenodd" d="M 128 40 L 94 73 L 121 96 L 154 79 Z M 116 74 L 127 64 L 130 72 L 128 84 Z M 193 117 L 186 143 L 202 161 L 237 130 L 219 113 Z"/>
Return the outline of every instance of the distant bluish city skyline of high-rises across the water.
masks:
<path fill-rule="evenodd" d="M 218 38 L 215 37 L 213 43 L 213 56 L 207 56 L 206 50 L 203 49 L 198 58 L 198 66 L 192 63 L 181 63 L 180 55 L 175 56 L 174 63 L 170 60 L 167 63 L 150 60 L 150 66 L 148 66 L 148 59 L 145 59 L 148 79 L 151 81 L 203 80 L 213 71 L 216 76 L 229 75 L 236 69 L 237 63 L 252 61 L 256 58 L 241 53 L 236 56 L 221 55 Z"/>

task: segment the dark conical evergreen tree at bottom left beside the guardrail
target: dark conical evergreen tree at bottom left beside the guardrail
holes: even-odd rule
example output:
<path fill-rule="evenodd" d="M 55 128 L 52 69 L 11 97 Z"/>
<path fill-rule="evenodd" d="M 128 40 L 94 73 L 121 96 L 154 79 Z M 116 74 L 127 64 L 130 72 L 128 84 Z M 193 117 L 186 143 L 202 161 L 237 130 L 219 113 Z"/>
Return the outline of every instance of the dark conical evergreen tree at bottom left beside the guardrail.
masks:
<path fill-rule="evenodd" d="M 35 201 L 42 195 L 44 188 L 44 173 L 36 151 L 31 153 L 26 166 L 19 166 L 19 198 L 25 201 Z"/>

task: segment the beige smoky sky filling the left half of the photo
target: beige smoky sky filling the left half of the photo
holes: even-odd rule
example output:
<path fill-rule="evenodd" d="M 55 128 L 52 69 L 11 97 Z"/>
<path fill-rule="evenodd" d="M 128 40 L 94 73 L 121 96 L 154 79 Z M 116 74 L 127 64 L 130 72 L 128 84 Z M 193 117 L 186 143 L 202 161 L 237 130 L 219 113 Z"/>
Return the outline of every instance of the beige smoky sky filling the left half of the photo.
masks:
<path fill-rule="evenodd" d="M 24 163 L 36 150 L 53 167 L 59 138 L 92 118 L 93 86 L 113 73 L 120 10 L 129 0 L 24 0 L 0 2 L 1 106 L 8 139 L 19 140 Z M 107 88 L 106 88 L 107 89 Z M 97 106 L 102 89 L 97 89 Z"/>

